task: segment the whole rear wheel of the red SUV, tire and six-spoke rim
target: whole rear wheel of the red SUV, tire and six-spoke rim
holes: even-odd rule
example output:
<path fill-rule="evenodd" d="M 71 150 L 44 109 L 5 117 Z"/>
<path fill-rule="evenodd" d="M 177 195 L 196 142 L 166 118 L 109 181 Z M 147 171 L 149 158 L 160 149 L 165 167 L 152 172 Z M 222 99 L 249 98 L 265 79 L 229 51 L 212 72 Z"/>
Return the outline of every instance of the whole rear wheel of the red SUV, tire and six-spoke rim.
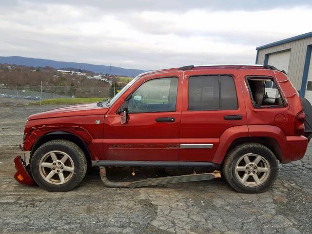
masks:
<path fill-rule="evenodd" d="M 234 190 L 240 193 L 262 193 L 273 185 L 278 163 L 269 148 L 259 143 L 246 143 L 230 151 L 222 172 Z"/>

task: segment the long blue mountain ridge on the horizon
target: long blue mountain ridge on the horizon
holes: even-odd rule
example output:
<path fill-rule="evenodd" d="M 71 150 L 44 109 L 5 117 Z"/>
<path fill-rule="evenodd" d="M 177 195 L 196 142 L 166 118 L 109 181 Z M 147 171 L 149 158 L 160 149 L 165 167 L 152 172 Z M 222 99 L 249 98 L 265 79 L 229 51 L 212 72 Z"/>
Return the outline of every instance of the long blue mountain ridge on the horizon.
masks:
<path fill-rule="evenodd" d="M 82 70 L 89 70 L 95 73 L 109 73 L 109 66 L 104 65 L 94 65 L 89 63 L 78 63 L 78 62 L 61 62 L 54 61 L 49 59 L 33 59 L 33 58 L 25 58 L 20 56 L 10 56 L 10 57 L 2 57 L 0 56 L 0 63 L 9 63 L 9 64 L 17 64 L 17 65 L 25 65 L 30 67 L 45 67 L 50 66 L 56 69 L 64 68 L 64 67 L 73 67 Z M 137 76 L 140 73 L 146 71 L 137 70 L 137 69 L 127 69 L 121 67 L 111 67 L 111 74 L 118 76 L 127 76 L 133 77 Z"/>

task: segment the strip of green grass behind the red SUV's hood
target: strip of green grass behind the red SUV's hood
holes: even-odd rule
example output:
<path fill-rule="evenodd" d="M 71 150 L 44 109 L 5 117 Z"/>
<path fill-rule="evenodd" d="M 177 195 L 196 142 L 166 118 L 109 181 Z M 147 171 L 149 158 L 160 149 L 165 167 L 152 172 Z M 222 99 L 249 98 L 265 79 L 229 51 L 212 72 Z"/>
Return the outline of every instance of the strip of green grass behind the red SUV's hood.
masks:
<path fill-rule="evenodd" d="M 52 98 L 41 101 L 41 105 L 74 105 L 99 102 L 103 98 Z M 40 101 L 31 102 L 30 105 L 40 105 Z"/>

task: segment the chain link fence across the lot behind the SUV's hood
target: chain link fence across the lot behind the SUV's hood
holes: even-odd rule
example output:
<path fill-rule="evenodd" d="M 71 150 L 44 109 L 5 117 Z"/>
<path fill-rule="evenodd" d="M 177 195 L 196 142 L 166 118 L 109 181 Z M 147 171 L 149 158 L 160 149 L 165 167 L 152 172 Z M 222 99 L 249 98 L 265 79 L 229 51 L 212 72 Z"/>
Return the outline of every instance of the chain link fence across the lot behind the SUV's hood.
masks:
<path fill-rule="evenodd" d="M 111 86 L 0 86 L 0 100 L 29 103 L 51 98 L 108 98 Z"/>

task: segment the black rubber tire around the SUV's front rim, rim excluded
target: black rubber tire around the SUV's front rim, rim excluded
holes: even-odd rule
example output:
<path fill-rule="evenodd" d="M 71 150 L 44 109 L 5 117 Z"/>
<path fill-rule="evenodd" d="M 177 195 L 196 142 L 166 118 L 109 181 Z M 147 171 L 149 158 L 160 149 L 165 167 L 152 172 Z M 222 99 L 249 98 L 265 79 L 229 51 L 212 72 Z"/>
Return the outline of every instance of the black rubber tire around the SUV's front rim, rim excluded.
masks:
<path fill-rule="evenodd" d="M 63 184 L 49 183 L 41 175 L 42 172 L 40 172 L 39 167 L 40 161 L 43 156 L 52 151 L 61 151 L 66 153 L 70 156 L 74 164 L 71 176 L 69 176 L 69 179 Z M 75 143 L 69 140 L 51 140 L 39 146 L 39 148 L 35 151 L 30 161 L 30 170 L 34 180 L 41 188 L 50 192 L 66 192 L 77 187 L 84 178 L 87 171 L 87 160 L 83 151 Z"/>

